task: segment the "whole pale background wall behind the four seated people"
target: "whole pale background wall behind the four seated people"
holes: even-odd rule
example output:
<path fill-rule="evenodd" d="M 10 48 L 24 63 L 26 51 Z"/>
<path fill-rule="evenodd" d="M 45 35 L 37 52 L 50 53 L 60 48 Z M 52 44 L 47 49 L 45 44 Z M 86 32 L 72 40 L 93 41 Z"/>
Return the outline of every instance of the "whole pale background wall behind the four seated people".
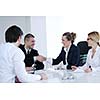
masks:
<path fill-rule="evenodd" d="M 88 12 L 87 12 L 88 13 Z M 61 51 L 61 37 L 64 32 L 76 32 L 78 41 L 86 40 L 88 32 L 99 31 L 100 16 L 88 16 L 77 13 L 73 16 L 0 16 L 0 43 L 4 42 L 4 31 L 12 24 L 19 25 L 24 34 L 32 32 L 35 35 L 35 48 L 47 57 L 57 57 Z M 100 31 L 99 31 L 100 32 Z"/>

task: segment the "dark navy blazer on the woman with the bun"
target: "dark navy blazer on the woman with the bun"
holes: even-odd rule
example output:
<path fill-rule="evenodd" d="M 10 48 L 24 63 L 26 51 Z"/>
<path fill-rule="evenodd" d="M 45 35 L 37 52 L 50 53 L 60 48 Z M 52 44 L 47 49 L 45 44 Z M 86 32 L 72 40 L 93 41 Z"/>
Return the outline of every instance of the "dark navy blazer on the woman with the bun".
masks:
<path fill-rule="evenodd" d="M 64 50 L 64 47 L 62 47 L 61 53 L 56 59 L 53 59 L 52 65 L 57 65 L 61 61 L 63 61 L 63 64 L 65 65 L 66 64 L 65 57 L 66 57 L 66 52 Z M 79 59 L 80 59 L 79 48 L 75 46 L 74 44 L 72 44 L 69 49 L 68 56 L 67 56 L 67 62 L 68 62 L 68 65 L 66 66 L 67 69 L 71 69 L 72 65 L 78 66 Z"/>

